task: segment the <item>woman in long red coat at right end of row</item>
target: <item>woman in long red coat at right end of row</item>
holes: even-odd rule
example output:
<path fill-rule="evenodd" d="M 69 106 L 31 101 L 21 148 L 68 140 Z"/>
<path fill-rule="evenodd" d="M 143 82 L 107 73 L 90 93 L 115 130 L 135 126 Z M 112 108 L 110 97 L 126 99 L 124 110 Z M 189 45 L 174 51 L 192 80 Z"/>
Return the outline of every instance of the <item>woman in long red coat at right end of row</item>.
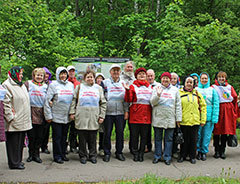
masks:
<path fill-rule="evenodd" d="M 225 159 L 227 135 L 236 134 L 236 120 L 238 117 L 237 93 L 227 82 L 226 72 L 220 71 L 216 75 L 213 88 L 219 95 L 220 111 L 218 123 L 214 125 L 213 146 L 215 158 Z"/>

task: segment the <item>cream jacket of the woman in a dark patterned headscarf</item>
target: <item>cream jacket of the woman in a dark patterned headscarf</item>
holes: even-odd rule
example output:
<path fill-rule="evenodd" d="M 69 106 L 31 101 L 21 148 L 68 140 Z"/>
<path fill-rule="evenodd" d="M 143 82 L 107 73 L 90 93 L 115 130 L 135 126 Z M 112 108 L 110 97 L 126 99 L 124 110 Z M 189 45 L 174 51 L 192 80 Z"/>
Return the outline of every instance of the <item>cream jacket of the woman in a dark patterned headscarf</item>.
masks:
<path fill-rule="evenodd" d="M 19 86 L 10 77 L 2 85 L 7 89 L 3 101 L 5 130 L 9 132 L 30 130 L 31 108 L 26 86 Z"/>

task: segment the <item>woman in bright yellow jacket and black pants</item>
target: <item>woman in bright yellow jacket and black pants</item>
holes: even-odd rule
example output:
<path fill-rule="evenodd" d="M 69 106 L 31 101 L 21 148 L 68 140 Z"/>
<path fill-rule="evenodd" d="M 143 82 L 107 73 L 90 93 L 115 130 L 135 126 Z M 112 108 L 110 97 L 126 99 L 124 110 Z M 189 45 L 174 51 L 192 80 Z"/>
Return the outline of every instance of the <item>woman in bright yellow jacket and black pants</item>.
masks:
<path fill-rule="evenodd" d="M 183 132 L 184 143 L 180 145 L 178 162 L 183 162 L 189 155 L 190 162 L 195 164 L 199 125 L 204 126 L 206 123 L 206 103 L 202 94 L 194 88 L 193 77 L 186 77 L 183 84 L 183 88 L 180 89 L 182 122 L 179 124 Z"/>

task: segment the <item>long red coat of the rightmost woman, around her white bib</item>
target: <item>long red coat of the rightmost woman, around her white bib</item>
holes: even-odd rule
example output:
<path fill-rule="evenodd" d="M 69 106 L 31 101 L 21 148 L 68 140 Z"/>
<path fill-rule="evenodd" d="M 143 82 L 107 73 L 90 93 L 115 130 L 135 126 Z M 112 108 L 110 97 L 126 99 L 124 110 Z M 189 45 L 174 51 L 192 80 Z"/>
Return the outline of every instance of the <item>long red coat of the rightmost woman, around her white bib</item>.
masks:
<path fill-rule="evenodd" d="M 215 85 L 219 86 L 218 82 L 215 81 Z M 225 82 L 225 85 L 228 85 Z M 231 96 L 233 97 L 232 102 L 220 103 L 219 109 L 219 120 L 215 124 L 213 134 L 222 135 L 222 134 L 236 134 L 236 120 L 239 114 L 238 104 L 237 104 L 237 93 L 234 88 L 231 86 Z"/>

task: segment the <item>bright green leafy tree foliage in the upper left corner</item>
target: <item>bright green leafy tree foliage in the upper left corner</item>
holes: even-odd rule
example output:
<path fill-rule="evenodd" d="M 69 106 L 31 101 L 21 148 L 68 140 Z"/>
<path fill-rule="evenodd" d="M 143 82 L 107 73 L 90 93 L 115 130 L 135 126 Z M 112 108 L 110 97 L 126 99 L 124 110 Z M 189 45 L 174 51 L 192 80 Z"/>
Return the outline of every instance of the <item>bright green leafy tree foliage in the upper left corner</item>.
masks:
<path fill-rule="evenodd" d="M 9 66 L 23 65 L 25 75 L 34 67 L 47 66 L 55 71 L 72 58 L 94 56 L 97 45 L 87 37 L 77 36 L 81 27 L 65 9 L 60 14 L 49 12 L 42 1 L 1 1 L 0 60 L 2 72 Z M 5 76 L 4 76 L 5 77 Z"/>

